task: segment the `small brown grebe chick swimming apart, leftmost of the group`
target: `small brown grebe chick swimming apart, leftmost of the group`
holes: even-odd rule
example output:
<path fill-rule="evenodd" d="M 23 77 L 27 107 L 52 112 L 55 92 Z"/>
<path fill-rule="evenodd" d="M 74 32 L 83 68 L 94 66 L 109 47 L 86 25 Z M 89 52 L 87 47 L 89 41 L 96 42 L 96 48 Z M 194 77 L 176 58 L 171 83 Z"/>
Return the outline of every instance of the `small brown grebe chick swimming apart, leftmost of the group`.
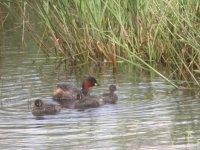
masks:
<path fill-rule="evenodd" d="M 44 103 L 41 99 L 37 99 L 33 103 L 32 114 L 34 116 L 44 116 L 44 115 L 55 115 L 60 112 L 60 105 L 56 104 L 47 104 Z"/>

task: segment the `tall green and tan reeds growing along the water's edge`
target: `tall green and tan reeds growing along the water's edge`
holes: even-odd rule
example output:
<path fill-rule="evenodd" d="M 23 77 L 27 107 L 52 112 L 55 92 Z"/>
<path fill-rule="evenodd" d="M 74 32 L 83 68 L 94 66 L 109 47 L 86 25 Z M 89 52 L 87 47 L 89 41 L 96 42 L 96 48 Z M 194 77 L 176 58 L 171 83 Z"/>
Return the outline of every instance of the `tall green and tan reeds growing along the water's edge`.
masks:
<path fill-rule="evenodd" d="M 175 87 L 170 79 L 200 86 L 199 0 L 21 2 L 41 19 L 43 32 L 30 18 L 26 26 L 49 57 L 73 65 L 110 61 L 117 67 L 124 61 L 154 71 Z"/>

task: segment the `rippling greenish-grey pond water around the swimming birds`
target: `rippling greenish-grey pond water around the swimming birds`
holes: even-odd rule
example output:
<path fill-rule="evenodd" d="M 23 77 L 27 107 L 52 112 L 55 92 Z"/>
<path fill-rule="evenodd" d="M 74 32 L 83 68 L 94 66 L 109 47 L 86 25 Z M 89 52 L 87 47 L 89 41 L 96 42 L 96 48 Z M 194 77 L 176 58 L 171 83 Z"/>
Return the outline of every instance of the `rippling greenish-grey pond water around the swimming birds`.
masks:
<path fill-rule="evenodd" d="M 31 43 L 4 35 L 0 45 L 1 149 L 197 150 L 200 147 L 199 93 L 176 90 L 153 73 L 121 64 L 82 69 L 56 68 Z M 52 101 L 56 83 L 76 86 L 87 75 L 101 84 L 92 94 L 117 84 L 115 105 L 78 111 L 62 109 L 38 120 L 31 113 L 36 98 Z"/>

